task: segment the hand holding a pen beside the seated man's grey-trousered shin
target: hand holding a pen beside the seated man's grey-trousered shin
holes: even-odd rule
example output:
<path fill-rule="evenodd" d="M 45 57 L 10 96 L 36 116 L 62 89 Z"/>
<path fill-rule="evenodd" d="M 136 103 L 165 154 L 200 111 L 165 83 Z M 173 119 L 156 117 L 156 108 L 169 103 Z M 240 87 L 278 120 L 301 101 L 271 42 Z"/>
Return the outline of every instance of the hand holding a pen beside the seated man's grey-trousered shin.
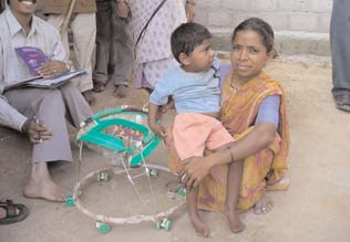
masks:
<path fill-rule="evenodd" d="M 27 119 L 22 130 L 28 134 L 29 140 L 32 144 L 42 143 L 43 140 L 49 140 L 52 137 L 52 133 L 47 129 L 45 125 L 35 124 L 33 119 Z"/>

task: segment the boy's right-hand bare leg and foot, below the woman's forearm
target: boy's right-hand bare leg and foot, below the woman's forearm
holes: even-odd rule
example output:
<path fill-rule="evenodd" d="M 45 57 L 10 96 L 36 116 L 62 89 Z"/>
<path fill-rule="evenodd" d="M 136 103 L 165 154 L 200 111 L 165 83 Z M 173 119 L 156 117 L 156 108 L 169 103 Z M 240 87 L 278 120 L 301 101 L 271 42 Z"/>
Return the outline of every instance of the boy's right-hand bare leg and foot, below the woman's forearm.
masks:
<path fill-rule="evenodd" d="M 238 202 L 240 182 L 243 172 L 243 160 L 234 161 L 229 165 L 227 176 L 227 196 L 226 206 L 224 208 L 224 214 L 228 219 L 229 229 L 234 233 L 244 231 L 245 225 L 239 219 L 239 214 L 236 210 Z"/>

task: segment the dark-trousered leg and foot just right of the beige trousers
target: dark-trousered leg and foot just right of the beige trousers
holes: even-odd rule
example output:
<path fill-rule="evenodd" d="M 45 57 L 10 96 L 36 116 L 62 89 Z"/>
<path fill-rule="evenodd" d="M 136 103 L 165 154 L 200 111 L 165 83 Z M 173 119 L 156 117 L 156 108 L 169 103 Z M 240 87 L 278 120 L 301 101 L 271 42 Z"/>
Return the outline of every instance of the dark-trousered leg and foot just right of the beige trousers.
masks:
<path fill-rule="evenodd" d="M 101 92 L 107 83 L 107 63 L 110 60 L 110 44 L 111 44 L 111 18 L 112 9 L 111 1 L 96 1 L 96 62 L 93 71 L 93 81 L 95 92 Z"/>

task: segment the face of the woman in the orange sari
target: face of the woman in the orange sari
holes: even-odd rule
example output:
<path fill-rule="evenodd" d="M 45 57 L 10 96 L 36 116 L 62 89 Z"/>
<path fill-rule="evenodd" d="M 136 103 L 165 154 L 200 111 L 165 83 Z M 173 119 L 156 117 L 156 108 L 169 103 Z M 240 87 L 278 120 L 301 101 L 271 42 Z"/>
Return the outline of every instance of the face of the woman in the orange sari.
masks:
<path fill-rule="evenodd" d="M 261 72 L 269 60 L 260 35 L 253 30 L 243 30 L 236 33 L 230 52 L 234 73 L 241 82 L 247 82 Z"/>

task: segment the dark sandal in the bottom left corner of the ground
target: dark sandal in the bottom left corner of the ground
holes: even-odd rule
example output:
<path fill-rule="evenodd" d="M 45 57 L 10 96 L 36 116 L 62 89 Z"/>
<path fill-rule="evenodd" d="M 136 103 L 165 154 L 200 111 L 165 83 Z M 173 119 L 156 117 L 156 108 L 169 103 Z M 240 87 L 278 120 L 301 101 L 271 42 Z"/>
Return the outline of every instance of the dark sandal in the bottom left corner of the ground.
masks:
<path fill-rule="evenodd" d="M 0 202 L 0 208 L 6 211 L 6 217 L 0 219 L 0 224 L 20 222 L 29 214 L 29 210 L 25 206 L 13 203 L 12 200 Z"/>

